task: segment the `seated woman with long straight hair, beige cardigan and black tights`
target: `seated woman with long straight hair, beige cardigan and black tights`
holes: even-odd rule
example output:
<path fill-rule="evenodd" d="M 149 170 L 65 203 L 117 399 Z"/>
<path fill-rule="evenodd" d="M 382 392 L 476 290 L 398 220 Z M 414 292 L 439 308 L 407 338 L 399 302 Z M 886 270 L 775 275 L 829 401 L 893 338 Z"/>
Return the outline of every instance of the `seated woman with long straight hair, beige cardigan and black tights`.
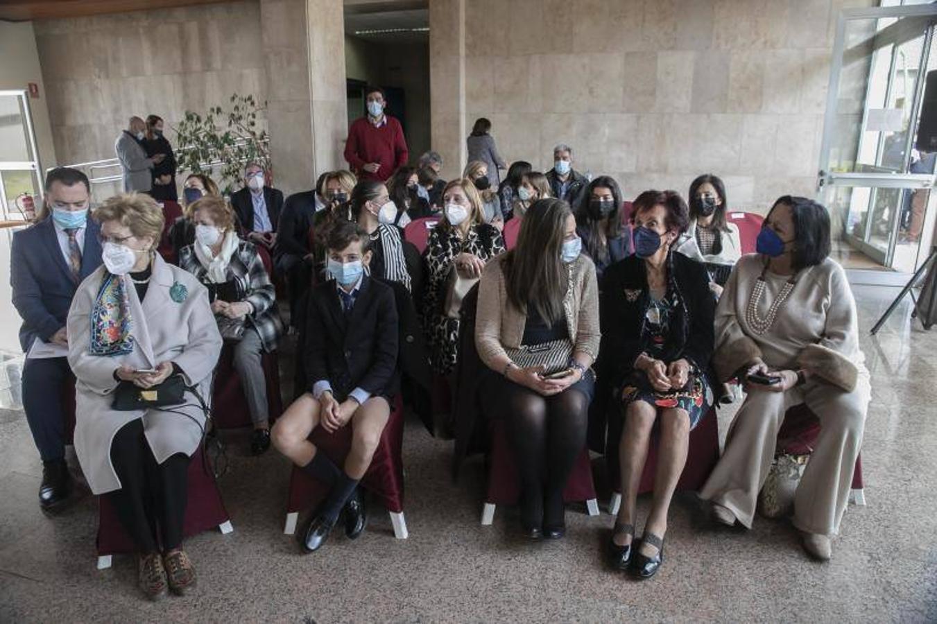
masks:
<path fill-rule="evenodd" d="M 586 445 L 599 290 L 581 249 L 570 204 L 536 201 L 517 246 L 488 262 L 479 286 L 475 345 L 490 368 L 482 407 L 506 423 L 530 539 L 564 535 L 563 490 Z"/>

